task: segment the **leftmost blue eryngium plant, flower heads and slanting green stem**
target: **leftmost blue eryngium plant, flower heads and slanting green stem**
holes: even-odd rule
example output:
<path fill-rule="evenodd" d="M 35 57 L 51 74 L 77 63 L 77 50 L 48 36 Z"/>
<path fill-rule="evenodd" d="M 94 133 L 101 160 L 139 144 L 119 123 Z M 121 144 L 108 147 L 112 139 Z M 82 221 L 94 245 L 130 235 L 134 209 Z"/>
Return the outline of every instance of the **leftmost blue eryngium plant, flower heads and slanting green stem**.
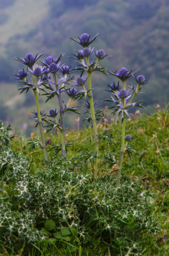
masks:
<path fill-rule="evenodd" d="M 45 69 L 40 69 L 40 67 L 34 67 L 36 61 L 42 56 L 43 54 L 37 54 L 35 57 L 32 54 L 27 54 L 25 58 L 15 57 L 17 61 L 22 63 L 23 65 L 27 66 L 27 71 L 20 70 L 18 74 L 16 74 L 16 80 L 22 84 L 23 87 L 19 88 L 21 93 L 25 91 L 26 93 L 31 89 L 34 93 L 34 99 L 36 102 L 36 115 L 37 115 L 37 125 L 40 126 L 40 136 L 42 142 L 42 148 L 44 150 L 44 158 L 47 160 L 47 153 L 45 148 L 45 139 L 44 139 L 44 131 L 43 131 L 43 123 L 42 123 L 42 116 L 40 112 L 40 106 L 38 101 L 38 96 L 40 96 L 40 88 L 45 83 L 44 75 L 46 73 Z M 28 72 L 31 74 L 31 80 L 27 80 Z"/>

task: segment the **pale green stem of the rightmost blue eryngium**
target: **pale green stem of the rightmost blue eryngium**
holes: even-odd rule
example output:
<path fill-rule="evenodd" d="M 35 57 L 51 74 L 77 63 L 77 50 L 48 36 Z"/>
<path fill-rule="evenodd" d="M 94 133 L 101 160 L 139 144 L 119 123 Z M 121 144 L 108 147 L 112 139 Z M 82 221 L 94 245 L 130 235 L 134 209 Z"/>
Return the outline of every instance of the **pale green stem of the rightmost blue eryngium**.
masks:
<path fill-rule="evenodd" d="M 123 89 L 125 89 L 125 87 L 126 87 L 126 82 L 123 81 Z M 125 109 L 125 99 L 123 99 L 123 110 L 124 109 Z M 121 150 L 120 150 L 120 159 L 119 159 L 119 164 L 118 164 L 116 187 L 120 187 L 120 178 L 121 178 L 121 174 L 122 174 L 123 155 L 125 152 L 125 123 L 126 123 L 126 114 L 123 113 L 122 141 L 121 141 Z"/>

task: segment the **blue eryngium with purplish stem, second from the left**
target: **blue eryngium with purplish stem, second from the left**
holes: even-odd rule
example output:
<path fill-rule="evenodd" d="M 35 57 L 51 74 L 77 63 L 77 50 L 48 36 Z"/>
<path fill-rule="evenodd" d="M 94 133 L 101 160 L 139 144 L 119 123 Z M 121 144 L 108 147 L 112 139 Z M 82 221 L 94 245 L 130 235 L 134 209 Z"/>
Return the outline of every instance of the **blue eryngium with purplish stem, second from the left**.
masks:
<path fill-rule="evenodd" d="M 70 107 L 70 103 L 77 97 L 77 90 L 72 88 L 67 88 L 69 82 L 73 79 L 71 76 L 73 69 L 71 66 L 62 65 L 60 66 L 60 59 L 63 54 L 60 55 L 58 59 L 53 58 L 52 56 L 48 56 L 44 63 L 39 62 L 42 65 L 43 69 L 45 69 L 45 73 L 47 74 L 44 77 L 44 95 L 47 96 L 47 101 L 49 99 L 53 99 L 55 95 L 57 95 L 57 99 L 59 102 L 59 109 L 51 109 L 49 110 L 49 118 L 52 120 L 45 120 L 45 128 L 47 132 L 53 128 L 58 128 L 60 130 L 61 135 L 61 149 L 62 149 L 62 157 L 66 157 L 66 144 L 65 144 L 65 127 L 64 127 L 64 113 L 68 111 L 77 112 L 75 107 Z M 62 93 L 65 92 L 68 97 L 68 103 L 65 104 L 62 101 Z M 57 119 L 57 114 L 60 114 L 59 120 Z"/>

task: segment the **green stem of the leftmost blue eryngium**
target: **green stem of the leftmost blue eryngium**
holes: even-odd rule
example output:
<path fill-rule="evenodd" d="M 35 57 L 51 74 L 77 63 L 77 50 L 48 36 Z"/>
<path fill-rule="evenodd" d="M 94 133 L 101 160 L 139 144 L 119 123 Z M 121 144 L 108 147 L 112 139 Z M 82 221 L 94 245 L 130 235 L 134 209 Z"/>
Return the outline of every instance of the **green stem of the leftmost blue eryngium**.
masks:
<path fill-rule="evenodd" d="M 40 106 L 39 106 L 39 101 L 38 101 L 38 91 L 34 91 L 34 99 L 36 101 L 36 109 L 37 109 L 37 114 L 38 114 L 38 122 L 39 122 L 39 125 L 40 125 L 40 136 L 41 136 L 42 147 L 43 147 L 43 150 L 44 150 L 44 157 L 45 157 L 45 160 L 47 160 L 44 131 L 43 131 L 43 127 L 42 127 L 42 118 L 40 116 Z"/>

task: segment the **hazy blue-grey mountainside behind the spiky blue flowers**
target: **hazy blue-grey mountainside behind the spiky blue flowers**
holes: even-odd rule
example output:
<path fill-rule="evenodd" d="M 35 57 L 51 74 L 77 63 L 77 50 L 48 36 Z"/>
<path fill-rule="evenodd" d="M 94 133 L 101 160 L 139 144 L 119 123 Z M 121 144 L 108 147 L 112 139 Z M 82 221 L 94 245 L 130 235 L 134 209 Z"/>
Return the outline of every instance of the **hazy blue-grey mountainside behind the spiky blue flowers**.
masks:
<path fill-rule="evenodd" d="M 12 78 L 23 65 L 14 57 L 44 53 L 44 61 L 49 55 L 57 58 L 65 53 L 62 63 L 70 65 L 68 56 L 81 46 L 69 37 L 82 33 L 91 37 L 99 33 L 94 46 L 112 56 L 102 61 L 110 71 L 140 69 L 138 74 L 153 82 L 139 99 L 148 109 L 155 104 L 163 107 L 169 94 L 168 14 L 168 0 L 0 0 L 0 119 L 18 133 L 27 126 L 30 135 L 34 125 L 30 112 L 36 106 L 31 91 L 23 95 L 17 91 L 18 83 Z M 95 101 L 110 97 L 103 89 L 113 81 L 113 76 L 94 73 Z M 45 106 L 44 101 L 41 97 L 42 110 L 57 108 L 57 98 Z M 66 125 L 75 127 L 76 117 L 67 115 Z"/>

